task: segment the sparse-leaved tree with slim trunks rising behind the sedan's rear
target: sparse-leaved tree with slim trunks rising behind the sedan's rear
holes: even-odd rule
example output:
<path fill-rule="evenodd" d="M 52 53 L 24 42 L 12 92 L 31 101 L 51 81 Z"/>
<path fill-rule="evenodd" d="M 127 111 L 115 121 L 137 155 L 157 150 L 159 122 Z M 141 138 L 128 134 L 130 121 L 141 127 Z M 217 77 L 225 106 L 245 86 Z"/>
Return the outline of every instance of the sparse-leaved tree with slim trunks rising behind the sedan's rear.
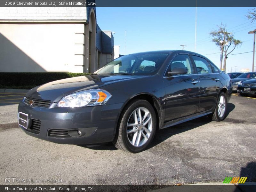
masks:
<path fill-rule="evenodd" d="M 220 24 L 217 25 L 218 29 L 213 30 L 210 35 L 212 36 L 212 42 L 214 42 L 218 47 L 220 47 L 221 56 L 220 56 L 220 69 L 222 70 L 222 60 L 224 53 L 224 63 L 223 70 L 226 71 L 226 62 L 228 55 L 233 52 L 237 46 L 242 44 L 242 41 L 234 38 L 234 34 L 229 33 L 226 29 L 226 25 Z M 230 49 L 229 49 L 230 48 Z"/>

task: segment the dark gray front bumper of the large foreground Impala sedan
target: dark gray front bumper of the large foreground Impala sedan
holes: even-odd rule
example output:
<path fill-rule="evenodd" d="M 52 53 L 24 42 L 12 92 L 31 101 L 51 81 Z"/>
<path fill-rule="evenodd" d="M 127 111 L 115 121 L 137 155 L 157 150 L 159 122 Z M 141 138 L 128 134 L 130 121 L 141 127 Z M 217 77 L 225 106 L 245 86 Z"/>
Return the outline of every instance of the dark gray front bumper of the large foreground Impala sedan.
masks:
<path fill-rule="evenodd" d="M 18 112 L 28 114 L 28 129 L 21 129 L 33 137 L 62 144 L 96 144 L 114 139 L 122 103 L 83 108 L 55 105 L 41 108 L 20 102 Z M 33 124 L 36 129 L 31 127 Z"/>

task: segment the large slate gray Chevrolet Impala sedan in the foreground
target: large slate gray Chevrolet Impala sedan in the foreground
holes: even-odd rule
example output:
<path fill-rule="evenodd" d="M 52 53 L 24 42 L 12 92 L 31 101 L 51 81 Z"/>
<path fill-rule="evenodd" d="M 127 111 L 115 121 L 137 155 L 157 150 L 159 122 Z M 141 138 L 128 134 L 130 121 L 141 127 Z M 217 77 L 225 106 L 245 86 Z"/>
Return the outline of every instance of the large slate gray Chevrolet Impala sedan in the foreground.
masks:
<path fill-rule="evenodd" d="M 232 87 L 206 57 L 188 51 L 122 56 L 88 76 L 31 89 L 19 104 L 27 134 L 56 143 L 112 141 L 140 152 L 157 129 L 210 115 L 222 121 Z"/>

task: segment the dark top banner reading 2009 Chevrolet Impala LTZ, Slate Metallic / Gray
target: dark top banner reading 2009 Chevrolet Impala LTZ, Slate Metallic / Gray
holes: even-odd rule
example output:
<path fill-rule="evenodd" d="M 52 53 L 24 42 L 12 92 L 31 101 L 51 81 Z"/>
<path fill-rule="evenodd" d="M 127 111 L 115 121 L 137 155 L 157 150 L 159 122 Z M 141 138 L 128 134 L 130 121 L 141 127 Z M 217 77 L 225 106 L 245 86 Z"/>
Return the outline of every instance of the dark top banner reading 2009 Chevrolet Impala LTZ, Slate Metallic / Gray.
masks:
<path fill-rule="evenodd" d="M 256 7 L 256 0 L 0 0 L 0 7 Z"/>

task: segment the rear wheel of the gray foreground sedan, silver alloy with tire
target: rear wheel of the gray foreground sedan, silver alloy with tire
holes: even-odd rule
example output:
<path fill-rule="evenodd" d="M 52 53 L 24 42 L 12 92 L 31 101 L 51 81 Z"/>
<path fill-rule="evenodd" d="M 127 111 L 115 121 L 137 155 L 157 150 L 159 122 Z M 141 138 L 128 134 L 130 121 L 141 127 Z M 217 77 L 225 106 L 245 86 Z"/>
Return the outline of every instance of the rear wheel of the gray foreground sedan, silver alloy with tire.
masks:
<path fill-rule="evenodd" d="M 222 121 L 226 118 L 227 104 L 228 104 L 228 102 L 227 102 L 226 94 L 224 92 L 220 92 L 216 107 L 215 107 L 213 115 L 212 115 L 213 121 Z"/>

